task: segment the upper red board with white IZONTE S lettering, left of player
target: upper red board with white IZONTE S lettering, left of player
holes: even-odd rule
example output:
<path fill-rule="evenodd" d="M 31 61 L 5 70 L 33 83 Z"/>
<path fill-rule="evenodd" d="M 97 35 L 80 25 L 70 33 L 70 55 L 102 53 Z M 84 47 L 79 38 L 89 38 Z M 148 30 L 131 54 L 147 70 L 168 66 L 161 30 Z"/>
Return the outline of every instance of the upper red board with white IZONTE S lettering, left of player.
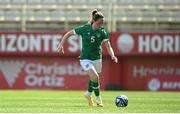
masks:
<path fill-rule="evenodd" d="M 57 47 L 64 33 L 0 33 L 0 55 L 58 55 Z M 81 37 L 70 36 L 63 55 L 78 56 Z M 104 51 L 104 53 L 106 50 Z"/>

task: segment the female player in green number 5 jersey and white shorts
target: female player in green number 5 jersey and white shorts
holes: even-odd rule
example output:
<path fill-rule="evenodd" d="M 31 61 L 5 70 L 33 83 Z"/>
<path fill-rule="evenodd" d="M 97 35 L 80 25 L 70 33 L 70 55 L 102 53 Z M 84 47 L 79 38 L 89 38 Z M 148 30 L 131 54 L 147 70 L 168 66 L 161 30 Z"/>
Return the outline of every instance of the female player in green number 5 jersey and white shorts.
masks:
<path fill-rule="evenodd" d="M 82 50 L 80 53 L 80 64 L 89 76 L 88 90 L 85 97 L 89 106 L 94 106 L 91 97 L 91 93 L 94 90 L 97 106 L 103 107 L 99 84 L 99 74 L 101 73 L 102 67 L 102 43 L 105 43 L 111 59 L 116 63 L 118 62 L 118 59 L 114 55 L 113 49 L 110 45 L 109 34 L 102 27 L 104 22 L 103 14 L 94 10 L 91 18 L 92 19 L 87 24 L 75 27 L 73 30 L 67 32 L 59 43 L 58 51 L 64 53 L 63 44 L 71 35 L 81 35 Z"/>

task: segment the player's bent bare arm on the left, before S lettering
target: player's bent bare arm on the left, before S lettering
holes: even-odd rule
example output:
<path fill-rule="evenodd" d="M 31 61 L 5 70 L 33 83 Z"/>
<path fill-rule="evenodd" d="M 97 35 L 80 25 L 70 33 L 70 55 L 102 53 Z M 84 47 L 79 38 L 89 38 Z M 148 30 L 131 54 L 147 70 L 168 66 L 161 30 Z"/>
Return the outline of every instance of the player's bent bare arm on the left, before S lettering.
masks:
<path fill-rule="evenodd" d="M 72 35 L 74 35 L 74 31 L 73 31 L 73 30 L 70 30 L 69 32 L 67 32 L 67 33 L 63 36 L 63 38 L 62 38 L 62 40 L 61 40 L 61 42 L 59 43 L 58 48 L 57 48 L 57 51 L 58 51 L 58 52 L 64 53 L 64 49 L 63 49 L 64 42 L 65 42 L 70 36 L 72 36 Z"/>

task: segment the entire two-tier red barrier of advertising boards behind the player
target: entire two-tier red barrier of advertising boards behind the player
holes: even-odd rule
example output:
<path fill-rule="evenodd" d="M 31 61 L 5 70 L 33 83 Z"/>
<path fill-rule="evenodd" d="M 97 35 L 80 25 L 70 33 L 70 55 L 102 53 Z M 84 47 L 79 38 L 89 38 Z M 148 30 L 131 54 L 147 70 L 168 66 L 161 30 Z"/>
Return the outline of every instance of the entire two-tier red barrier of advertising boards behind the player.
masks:
<path fill-rule="evenodd" d="M 79 64 L 81 40 L 72 36 L 57 53 L 64 33 L 0 33 L 0 89 L 86 89 Z M 180 33 L 110 33 L 119 63 L 103 45 L 101 89 L 180 90 Z"/>

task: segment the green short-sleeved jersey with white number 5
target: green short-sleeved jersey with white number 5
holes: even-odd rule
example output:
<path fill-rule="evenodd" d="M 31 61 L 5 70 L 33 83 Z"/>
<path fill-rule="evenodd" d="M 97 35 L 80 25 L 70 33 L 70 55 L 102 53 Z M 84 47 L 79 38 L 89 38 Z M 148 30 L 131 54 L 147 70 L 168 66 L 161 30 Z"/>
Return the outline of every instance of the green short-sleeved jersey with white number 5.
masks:
<path fill-rule="evenodd" d="M 109 40 L 108 32 L 100 27 L 93 30 L 92 25 L 87 23 L 74 28 L 74 32 L 82 38 L 82 50 L 80 59 L 98 60 L 102 59 L 101 44 Z"/>

